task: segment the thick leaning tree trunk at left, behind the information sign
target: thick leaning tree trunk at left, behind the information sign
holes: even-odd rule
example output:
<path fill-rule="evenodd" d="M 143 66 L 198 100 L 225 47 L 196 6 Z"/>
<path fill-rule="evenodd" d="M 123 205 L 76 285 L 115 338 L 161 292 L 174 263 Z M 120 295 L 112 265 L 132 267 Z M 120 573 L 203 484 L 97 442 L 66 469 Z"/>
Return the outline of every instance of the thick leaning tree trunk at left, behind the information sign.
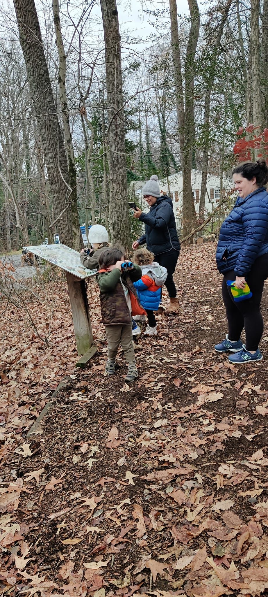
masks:
<path fill-rule="evenodd" d="M 14 0 L 30 95 L 42 140 L 60 241 L 73 247 L 68 166 L 34 0 Z M 65 182 L 66 181 L 66 182 Z"/>

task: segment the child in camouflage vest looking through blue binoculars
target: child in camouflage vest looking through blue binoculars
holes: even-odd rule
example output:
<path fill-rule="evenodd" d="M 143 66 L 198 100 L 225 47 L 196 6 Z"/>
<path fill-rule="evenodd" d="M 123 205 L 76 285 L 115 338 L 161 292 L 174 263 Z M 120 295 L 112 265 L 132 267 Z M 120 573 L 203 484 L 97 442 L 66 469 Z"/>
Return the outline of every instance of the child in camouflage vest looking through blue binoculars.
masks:
<path fill-rule="evenodd" d="M 133 282 L 141 276 L 141 267 L 127 261 L 117 248 L 104 250 L 99 256 L 96 279 L 100 290 L 102 323 L 108 340 L 105 374 L 114 374 L 117 350 L 121 343 L 128 364 L 125 381 L 135 381 L 138 377 L 132 342 L 132 315 L 146 315 L 133 286 Z"/>

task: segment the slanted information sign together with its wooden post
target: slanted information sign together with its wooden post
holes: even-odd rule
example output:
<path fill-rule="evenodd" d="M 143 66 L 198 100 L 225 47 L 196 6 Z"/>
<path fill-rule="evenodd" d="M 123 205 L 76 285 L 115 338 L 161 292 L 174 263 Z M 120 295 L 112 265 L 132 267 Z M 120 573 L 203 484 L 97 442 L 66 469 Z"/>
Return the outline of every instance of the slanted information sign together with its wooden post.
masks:
<path fill-rule="evenodd" d="M 95 276 L 96 270 L 84 267 L 79 253 L 66 245 L 40 245 L 24 248 L 41 259 L 60 267 L 66 273 L 77 353 L 79 356 L 82 355 L 77 361 L 76 367 L 85 368 L 86 363 L 96 352 L 86 294 L 86 279 Z"/>

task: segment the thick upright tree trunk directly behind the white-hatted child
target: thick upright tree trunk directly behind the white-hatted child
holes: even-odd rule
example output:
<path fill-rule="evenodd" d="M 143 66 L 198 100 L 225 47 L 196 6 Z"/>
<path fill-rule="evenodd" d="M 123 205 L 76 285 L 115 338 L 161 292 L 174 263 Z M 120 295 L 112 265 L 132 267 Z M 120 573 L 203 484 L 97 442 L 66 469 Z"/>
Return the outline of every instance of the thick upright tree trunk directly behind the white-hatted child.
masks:
<path fill-rule="evenodd" d="M 121 72 L 121 39 L 116 0 L 100 0 L 105 43 L 108 104 L 108 165 L 110 171 L 111 242 L 129 248 L 126 149 Z"/>

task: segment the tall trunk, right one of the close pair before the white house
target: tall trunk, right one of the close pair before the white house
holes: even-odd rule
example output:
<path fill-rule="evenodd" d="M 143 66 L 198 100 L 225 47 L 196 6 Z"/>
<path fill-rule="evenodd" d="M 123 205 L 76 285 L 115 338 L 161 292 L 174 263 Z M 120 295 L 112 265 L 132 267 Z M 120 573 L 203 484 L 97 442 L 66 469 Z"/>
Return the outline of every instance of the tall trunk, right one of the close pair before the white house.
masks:
<path fill-rule="evenodd" d="M 194 122 L 194 61 L 200 29 L 200 14 L 197 0 L 188 0 L 191 29 L 185 57 L 185 137 L 183 145 L 182 171 L 182 223 L 183 236 L 191 232 L 197 215 L 192 196 L 192 152 L 195 137 Z"/>

